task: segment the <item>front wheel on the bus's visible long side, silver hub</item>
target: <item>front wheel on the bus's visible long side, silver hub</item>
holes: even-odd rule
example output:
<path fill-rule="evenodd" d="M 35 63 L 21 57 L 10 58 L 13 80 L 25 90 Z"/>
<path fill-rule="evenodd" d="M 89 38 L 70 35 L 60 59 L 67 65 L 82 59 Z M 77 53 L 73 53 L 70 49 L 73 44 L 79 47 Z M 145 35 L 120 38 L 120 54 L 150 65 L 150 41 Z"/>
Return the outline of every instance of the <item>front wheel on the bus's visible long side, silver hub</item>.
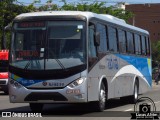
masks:
<path fill-rule="evenodd" d="M 99 100 L 95 102 L 95 107 L 96 110 L 99 112 L 102 112 L 105 109 L 106 106 L 106 90 L 105 90 L 105 85 L 102 82 L 100 91 L 99 91 Z"/>

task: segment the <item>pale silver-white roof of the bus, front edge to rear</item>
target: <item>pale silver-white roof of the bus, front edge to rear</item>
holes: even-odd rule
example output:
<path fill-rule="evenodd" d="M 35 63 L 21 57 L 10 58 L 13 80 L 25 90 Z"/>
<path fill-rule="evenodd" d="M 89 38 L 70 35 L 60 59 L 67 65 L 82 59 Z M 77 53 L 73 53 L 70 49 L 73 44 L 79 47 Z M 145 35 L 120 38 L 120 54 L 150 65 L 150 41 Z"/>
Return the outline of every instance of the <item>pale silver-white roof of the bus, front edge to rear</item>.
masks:
<path fill-rule="evenodd" d="M 32 12 L 32 13 L 23 13 L 18 15 L 15 19 L 20 20 L 25 17 L 37 17 L 37 16 L 84 16 L 89 20 L 90 18 L 99 18 L 110 23 L 114 23 L 120 26 L 124 26 L 126 28 L 136 30 L 139 32 L 143 32 L 145 34 L 149 34 L 148 31 L 129 25 L 123 19 L 116 18 L 112 15 L 108 14 L 96 14 L 93 12 L 83 12 L 83 11 L 43 11 L 43 12 Z"/>

